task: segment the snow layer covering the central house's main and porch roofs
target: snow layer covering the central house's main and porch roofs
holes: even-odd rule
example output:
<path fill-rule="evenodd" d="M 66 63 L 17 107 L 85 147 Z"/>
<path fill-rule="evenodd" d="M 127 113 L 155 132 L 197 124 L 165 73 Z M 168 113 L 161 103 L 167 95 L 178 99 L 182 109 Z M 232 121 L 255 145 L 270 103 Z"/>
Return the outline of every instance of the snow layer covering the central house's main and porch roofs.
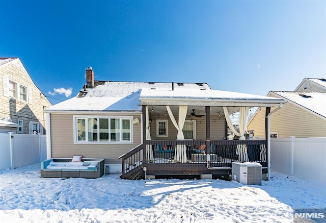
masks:
<path fill-rule="evenodd" d="M 97 82 L 98 84 L 98 82 Z M 244 103 L 268 101 L 282 103 L 275 97 L 212 90 L 206 83 L 101 82 L 82 90 L 67 101 L 45 109 L 59 111 L 141 111 L 140 100 L 148 98 L 193 98 L 198 100 L 240 100 Z"/>

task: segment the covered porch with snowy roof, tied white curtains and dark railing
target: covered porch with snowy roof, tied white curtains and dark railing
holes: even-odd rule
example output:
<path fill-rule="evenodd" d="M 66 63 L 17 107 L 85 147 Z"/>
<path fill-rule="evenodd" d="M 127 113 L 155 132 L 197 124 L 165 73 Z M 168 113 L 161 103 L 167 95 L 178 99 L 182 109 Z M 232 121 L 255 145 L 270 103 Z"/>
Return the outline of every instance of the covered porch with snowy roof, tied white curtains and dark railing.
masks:
<path fill-rule="evenodd" d="M 174 90 L 173 86 L 142 89 L 143 143 L 119 158 L 121 178 L 220 175 L 229 179 L 234 161 L 259 162 L 263 171 L 270 170 L 269 120 L 284 100 L 210 89 Z M 270 111 L 274 106 L 279 107 Z M 248 114 L 254 107 L 266 107 L 262 123 L 266 140 L 246 140 Z M 230 118 L 235 112 L 239 112 L 238 130 Z M 226 140 L 228 128 L 240 140 Z"/>

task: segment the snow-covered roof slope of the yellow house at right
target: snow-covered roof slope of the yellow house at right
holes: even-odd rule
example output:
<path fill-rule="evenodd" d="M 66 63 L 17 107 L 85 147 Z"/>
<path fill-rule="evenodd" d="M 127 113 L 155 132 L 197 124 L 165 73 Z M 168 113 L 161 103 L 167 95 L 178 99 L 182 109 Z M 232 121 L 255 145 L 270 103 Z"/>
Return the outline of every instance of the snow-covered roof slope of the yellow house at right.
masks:
<path fill-rule="evenodd" d="M 310 111 L 326 117 L 326 92 L 271 91 Z"/>

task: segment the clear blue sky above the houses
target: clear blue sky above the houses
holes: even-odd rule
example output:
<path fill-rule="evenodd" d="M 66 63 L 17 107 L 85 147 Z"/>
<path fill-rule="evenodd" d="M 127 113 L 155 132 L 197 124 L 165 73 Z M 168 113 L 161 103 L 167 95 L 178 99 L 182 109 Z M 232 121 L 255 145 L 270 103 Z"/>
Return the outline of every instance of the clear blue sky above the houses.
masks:
<path fill-rule="evenodd" d="M 100 81 L 206 82 L 258 95 L 326 78 L 326 1 L 0 5 L 0 57 L 19 57 L 52 104 L 78 93 L 88 66 Z"/>

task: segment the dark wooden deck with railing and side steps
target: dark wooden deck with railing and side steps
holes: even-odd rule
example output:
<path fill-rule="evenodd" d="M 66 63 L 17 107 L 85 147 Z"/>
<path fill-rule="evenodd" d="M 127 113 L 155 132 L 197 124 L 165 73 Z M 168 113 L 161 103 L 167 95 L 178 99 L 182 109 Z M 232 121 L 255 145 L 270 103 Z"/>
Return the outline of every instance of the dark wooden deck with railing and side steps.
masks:
<path fill-rule="evenodd" d="M 183 145 L 186 151 L 184 162 L 174 159 L 176 145 Z M 148 152 L 144 153 L 146 148 L 152 150 L 151 160 L 146 157 Z M 210 154 L 209 165 L 207 154 Z M 123 179 L 143 179 L 145 175 L 173 178 L 207 174 L 228 178 L 234 161 L 259 162 L 263 168 L 267 167 L 265 140 L 148 140 L 120 159 Z"/>

